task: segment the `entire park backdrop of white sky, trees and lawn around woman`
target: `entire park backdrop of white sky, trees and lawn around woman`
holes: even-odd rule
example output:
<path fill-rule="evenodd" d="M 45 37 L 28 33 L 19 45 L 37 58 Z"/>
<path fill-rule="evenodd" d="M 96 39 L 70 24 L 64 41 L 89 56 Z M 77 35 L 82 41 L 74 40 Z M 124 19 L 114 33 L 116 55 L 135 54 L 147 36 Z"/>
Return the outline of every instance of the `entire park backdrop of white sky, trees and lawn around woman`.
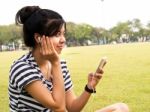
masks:
<path fill-rule="evenodd" d="M 9 111 L 8 78 L 14 60 L 28 52 L 16 12 L 25 5 L 56 10 L 67 22 L 67 60 L 79 95 L 87 74 L 107 56 L 105 74 L 83 112 L 124 102 L 131 112 L 150 112 L 149 0 L 4 0 L 0 4 L 0 111 Z"/>

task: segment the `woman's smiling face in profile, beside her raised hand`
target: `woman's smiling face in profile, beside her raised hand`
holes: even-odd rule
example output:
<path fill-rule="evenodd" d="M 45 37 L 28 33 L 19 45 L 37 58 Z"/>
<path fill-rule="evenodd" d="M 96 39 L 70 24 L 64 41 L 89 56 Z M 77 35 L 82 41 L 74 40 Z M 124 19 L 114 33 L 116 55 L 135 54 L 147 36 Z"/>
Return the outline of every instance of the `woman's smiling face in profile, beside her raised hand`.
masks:
<path fill-rule="evenodd" d="M 55 50 L 58 54 L 61 53 L 62 49 L 65 47 L 65 26 L 63 25 L 59 32 L 53 37 L 50 37 L 54 45 Z"/>

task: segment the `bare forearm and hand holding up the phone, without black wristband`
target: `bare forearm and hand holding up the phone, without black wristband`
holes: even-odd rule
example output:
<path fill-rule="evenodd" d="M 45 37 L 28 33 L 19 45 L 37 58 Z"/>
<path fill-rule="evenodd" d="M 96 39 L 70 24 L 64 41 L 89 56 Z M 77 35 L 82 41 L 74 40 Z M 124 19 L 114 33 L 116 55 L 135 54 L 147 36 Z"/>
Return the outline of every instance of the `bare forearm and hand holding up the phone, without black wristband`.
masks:
<path fill-rule="evenodd" d="M 98 82 L 102 78 L 103 67 L 105 64 L 106 64 L 106 60 L 102 59 L 96 70 L 96 73 L 89 74 L 88 84 L 87 84 L 89 89 L 93 90 L 97 86 Z M 90 96 L 91 96 L 91 93 L 89 93 L 85 90 L 79 97 L 75 96 L 73 90 L 68 91 L 66 93 L 66 102 L 67 102 L 66 104 L 67 104 L 68 111 L 69 112 L 80 112 L 83 109 L 83 107 L 86 105 L 86 103 L 88 102 Z"/>

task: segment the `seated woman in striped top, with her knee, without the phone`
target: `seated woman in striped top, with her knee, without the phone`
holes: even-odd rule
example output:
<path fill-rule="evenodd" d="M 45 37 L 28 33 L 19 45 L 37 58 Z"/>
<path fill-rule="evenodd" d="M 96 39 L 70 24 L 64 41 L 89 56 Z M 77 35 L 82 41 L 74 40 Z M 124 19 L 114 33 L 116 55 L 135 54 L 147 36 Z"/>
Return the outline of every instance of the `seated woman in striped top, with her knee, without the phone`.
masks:
<path fill-rule="evenodd" d="M 103 70 L 89 74 L 85 90 L 76 97 L 66 62 L 59 57 L 66 42 L 62 16 L 26 6 L 17 12 L 15 20 L 23 25 L 23 39 L 31 50 L 11 66 L 10 111 L 80 112 L 95 92 Z M 117 103 L 97 112 L 128 112 L 128 107 Z"/>

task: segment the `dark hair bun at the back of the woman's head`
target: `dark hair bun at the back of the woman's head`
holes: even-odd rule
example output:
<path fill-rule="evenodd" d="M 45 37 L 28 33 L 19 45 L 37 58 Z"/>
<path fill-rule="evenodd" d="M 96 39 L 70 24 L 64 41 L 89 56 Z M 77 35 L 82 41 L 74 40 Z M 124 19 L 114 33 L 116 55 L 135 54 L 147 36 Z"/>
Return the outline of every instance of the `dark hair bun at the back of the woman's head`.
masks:
<path fill-rule="evenodd" d="M 25 6 L 21 8 L 16 14 L 16 24 L 24 24 L 33 13 L 40 9 L 39 6 Z"/>

